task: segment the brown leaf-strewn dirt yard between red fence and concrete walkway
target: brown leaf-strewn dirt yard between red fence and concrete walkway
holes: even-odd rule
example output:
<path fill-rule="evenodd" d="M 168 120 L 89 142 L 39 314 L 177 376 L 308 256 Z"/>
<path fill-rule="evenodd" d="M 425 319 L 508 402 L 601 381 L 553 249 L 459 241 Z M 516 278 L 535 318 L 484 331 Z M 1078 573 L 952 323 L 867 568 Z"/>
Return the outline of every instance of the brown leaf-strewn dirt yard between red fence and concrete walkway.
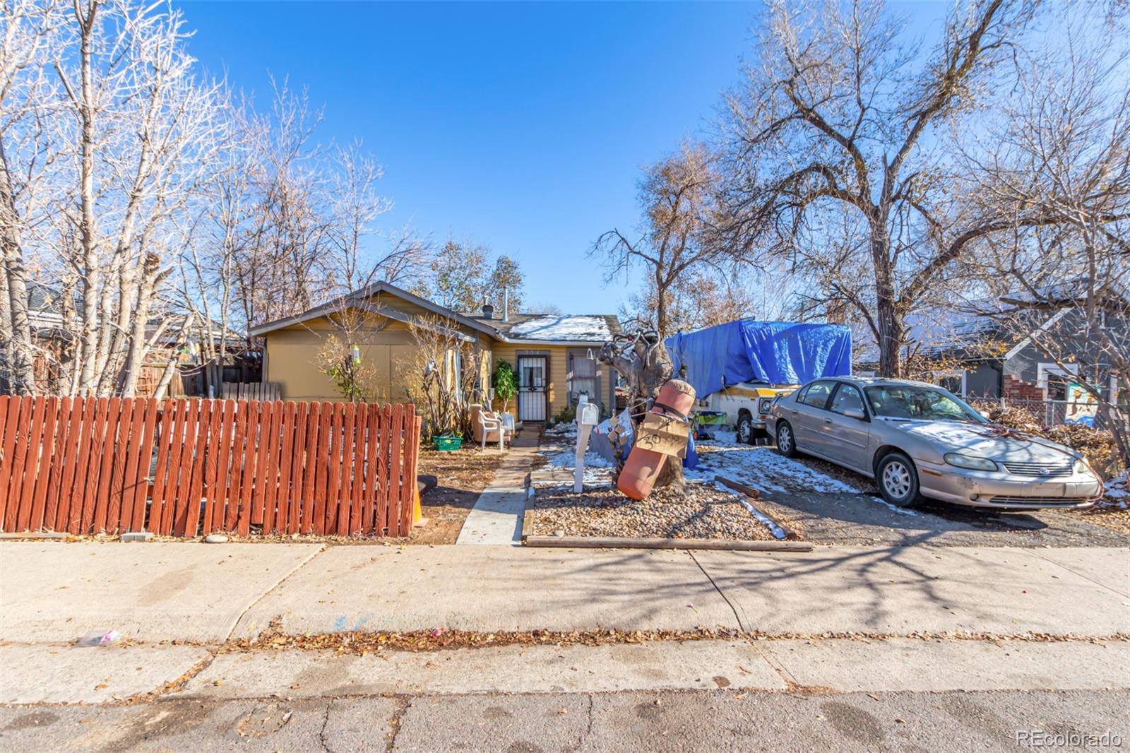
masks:
<path fill-rule="evenodd" d="M 480 451 L 477 445 L 464 444 L 454 452 L 421 449 L 419 474 L 435 476 L 436 486 L 420 497 L 427 525 L 414 529 L 407 543 L 454 544 L 467 513 L 490 483 L 502 458 L 497 449 Z"/>

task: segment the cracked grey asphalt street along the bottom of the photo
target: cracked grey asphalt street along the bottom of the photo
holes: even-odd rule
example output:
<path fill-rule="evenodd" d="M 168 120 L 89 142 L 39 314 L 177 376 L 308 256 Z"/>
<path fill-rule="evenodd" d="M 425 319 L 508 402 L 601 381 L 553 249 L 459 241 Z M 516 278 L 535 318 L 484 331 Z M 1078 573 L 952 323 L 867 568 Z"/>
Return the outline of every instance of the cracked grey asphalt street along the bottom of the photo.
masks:
<path fill-rule="evenodd" d="M 1130 746 L 1128 703 L 1127 691 L 716 690 L 8 707 L 0 708 L 0 747 L 155 753 L 1116 751 Z"/>

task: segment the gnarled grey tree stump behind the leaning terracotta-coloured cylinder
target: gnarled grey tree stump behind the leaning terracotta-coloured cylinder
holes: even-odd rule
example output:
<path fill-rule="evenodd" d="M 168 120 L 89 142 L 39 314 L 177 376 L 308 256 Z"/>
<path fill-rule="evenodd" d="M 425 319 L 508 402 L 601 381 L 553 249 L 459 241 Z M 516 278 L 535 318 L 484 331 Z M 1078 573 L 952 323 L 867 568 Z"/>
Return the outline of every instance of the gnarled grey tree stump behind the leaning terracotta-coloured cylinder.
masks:
<path fill-rule="evenodd" d="M 647 413 L 659 390 L 673 376 L 675 369 L 667 355 L 663 341 L 654 331 L 638 331 L 621 335 L 600 348 L 597 360 L 606 363 L 628 383 L 628 415 L 632 418 L 632 434 L 640 435 L 640 422 Z M 619 464 L 617 464 L 619 474 Z M 614 479 L 615 482 L 616 479 Z M 655 488 L 673 486 L 681 492 L 686 485 L 683 462 L 669 457 L 660 468 Z"/>

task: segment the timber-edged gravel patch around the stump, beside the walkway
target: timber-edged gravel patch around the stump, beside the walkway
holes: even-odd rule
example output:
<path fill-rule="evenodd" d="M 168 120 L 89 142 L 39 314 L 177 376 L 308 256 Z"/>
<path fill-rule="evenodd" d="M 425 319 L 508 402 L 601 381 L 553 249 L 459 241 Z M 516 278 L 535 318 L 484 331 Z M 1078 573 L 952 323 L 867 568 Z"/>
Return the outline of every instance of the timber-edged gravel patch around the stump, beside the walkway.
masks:
<path fill-rule="evenodd" d="M 568 487 L 538 490 L 529 534 L 629 536 L 635 538 L 718 538 L 770 542 L 773 534 L 739 497 L 707 484 L 687 484 L 683 493 L 658 488 L 631 500 L 616 490 L 574 494 Z"/>

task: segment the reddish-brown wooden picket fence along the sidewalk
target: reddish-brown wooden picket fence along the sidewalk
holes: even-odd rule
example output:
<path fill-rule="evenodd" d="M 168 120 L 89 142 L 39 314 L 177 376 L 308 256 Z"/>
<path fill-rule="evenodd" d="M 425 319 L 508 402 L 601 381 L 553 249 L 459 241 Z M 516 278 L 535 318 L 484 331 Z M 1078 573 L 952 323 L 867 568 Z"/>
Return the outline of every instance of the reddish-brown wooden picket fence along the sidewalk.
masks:
<path fill-rule="evenodd" d="M 0 396 L 0 529 L 403 536 L 411 405 Z"/>

